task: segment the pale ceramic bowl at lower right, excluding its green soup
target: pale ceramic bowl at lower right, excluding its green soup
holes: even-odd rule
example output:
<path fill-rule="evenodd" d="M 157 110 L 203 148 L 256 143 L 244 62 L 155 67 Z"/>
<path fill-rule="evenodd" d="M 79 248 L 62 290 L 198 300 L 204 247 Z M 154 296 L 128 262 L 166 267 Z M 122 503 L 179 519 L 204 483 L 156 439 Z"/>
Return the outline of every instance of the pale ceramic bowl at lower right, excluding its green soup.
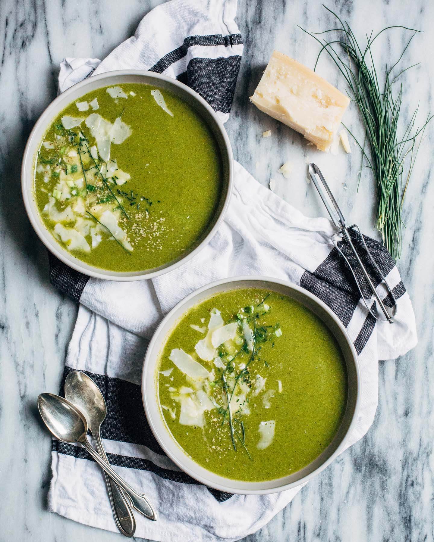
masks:
<path fill-rule="evenodd" d="M 201 467 L 177 444 L 164 421 L 157 395 L 156 365 L 164 344 L 177 321 L 190 308 L 210 296 L 237 288 L 264 288 L 290 296 L 314 312 L 327 325 L 339 343 L 345 359 L 348 374 L 348 400 L 342 423 L 333 441 L 315 461 L 296 473 L 266 482 L 242 482 L 224 478 Z M 185 473 L 207 486 L 228 493 L 257 495 L 276 493 L 299 486 L 326 468 L 346 447 L 346 442 L 357 420 L 360 403 L 360 374 L 356 351 L 342 322 L 315 295 L 283 280 L 265 276 L 241 276 L 213 282 L 188 295 L 178 303 L 157 327 L 149 346 L 142 371 L 142 398 L 148 423 L 159 445 Z"/>

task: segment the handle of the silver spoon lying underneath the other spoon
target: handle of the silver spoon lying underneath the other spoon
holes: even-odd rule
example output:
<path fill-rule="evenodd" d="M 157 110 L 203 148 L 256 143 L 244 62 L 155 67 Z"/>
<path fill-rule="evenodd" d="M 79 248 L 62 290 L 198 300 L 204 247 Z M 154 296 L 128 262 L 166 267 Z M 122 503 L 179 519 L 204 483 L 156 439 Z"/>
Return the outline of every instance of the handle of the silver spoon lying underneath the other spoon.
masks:
<path fill-rule="evenodd" d="M 99 455 L 105 460 L 107 464 L 110 464 L 105 453 L 103 442 L 101 441 L 101 435 L 99 430 L 92 431 L 93 440 L 97 445 Z M 122 487 L 118 486 L 110 476 L 104 471 L 104 478 L 107 485 L 107 492 L 110 498 L 110 504 L 112 505 L 114 520 L 118 526 L 119 531 L 125 537 L 133 537 L 136 531 L 136 520 L 129 505 L 129 501 L 126 498 Z"/>

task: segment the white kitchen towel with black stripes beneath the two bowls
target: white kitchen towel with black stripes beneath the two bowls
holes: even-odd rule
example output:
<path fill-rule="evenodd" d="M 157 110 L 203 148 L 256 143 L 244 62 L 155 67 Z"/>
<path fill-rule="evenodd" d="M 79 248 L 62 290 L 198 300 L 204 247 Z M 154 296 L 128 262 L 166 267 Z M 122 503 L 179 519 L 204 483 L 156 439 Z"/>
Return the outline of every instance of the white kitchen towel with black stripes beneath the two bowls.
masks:
<path fill-rule="evenodd" d="M 192 86 L 225 120 L 242 53 L 235 12 L 236 0 L 163 4 L 102 62 L 63 61 L 60 91 L 94 73 L 152 69 Z M 102 427 L 108 457 L 127 482 L 149 496 L 159 513 L 156 522 L 136 514 L 137 537 L 164 542 L 238 540 L 266 524 L 300 489 L 261 496 L 215 491 L 181 472 L 159 448 L 143 412 L 139 385 L 143 357 L 159 320 L 186 294 L 226 276 L 261 274 L 295 282 L 326 302 L 346 326 L 359 354 L 361 409 L 348 446 L 373 421 L 378 360 L 395 358 L 417 341 L 409 296 L 384 247 L 365 237 L 398 299 L 393 325 L 378 324 L 367 313 L 329 241 L 334 230 L 328 220 L 303 216 L 238 163 L 234 183 L 225 220 L 208 246 L 156 279 L 125 283 L 88 279 L 50 256 L 50 280 L 80 301 L 64 378 L 77 369 L 97 382 L 108 408 Z M 360 239 L 355 242 L 360 246 Z M 116 531 L 103 475 L 86 450 L 53 441 L 52 457 L 49 509 Z"/>

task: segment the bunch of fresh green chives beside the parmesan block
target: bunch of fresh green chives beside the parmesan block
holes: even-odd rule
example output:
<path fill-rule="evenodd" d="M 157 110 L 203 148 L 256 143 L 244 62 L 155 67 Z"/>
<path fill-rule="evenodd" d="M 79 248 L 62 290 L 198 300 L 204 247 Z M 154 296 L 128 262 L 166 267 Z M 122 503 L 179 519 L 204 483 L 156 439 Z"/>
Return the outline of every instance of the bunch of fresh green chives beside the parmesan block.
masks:
<path fill-rule="evenodd" d="M 326 6 L 324 8 L 336 17 L 340 28 L 326 30 L 318 33 L 318 35 L 336 32 L 338 34 L 337 39 L 332 41 L 320 40 L 314 34 L 302 30 L 314 37 L 322 46 L 320 53 L 318 53 L 315 68 L 321 53 L 326 51 L 347 81 L 349 97 L 359 107 L 366 130 L 365 144 L 367 141 L 370 158 L 365 152 L 366 145 L 361 146 L 359 141 L 354 139 L 362 151 L 362 163 L 366 160 L 368 167 L 375 176 L 378 197 L 376 227 L 381 233 L 386 248 L 390 251 L 393 259 L 397 260 L 401 255 L 403 227 L 401 209 L 420 144 L 420 140 L 419 144 L 416 144 L 416 138 L 420 134 L 420 139 L 422 139 L 425 126 L 433 116 L 427 115 L 423 126 L 416 128 L 414 123 L 418 112 L 417 108 L 406 126 L 401 126 L 403 123 L 400 122 L 403 85 L 401 83 L 399 89 L 395 90 L 394 83 L 407 69 L 417 66 L 417 64 L 401 69 L 396 74 L 393 74 L 393 71 L 419 30 L 391 26 L 384 28 L 374 37 L 373 32 L 371 32 L 369 36 L 366 35 L 366 46 L 362 49 L 359 47 L 349 24 L 347 22 L 343 23 Z M 402 28 L 412 31 L 413 34 L 397 62 L 391 68 L 388 68 L 386 64 L 384 69 L 385 81 L 384 85 L 382 85 L 378 79 L 371 47 L 380 34 L 391 28 Z M 348 131 L 354 137 L 352 132 Z M 400 131 L 400 134 L 398 134 L 398 131 Z"/>

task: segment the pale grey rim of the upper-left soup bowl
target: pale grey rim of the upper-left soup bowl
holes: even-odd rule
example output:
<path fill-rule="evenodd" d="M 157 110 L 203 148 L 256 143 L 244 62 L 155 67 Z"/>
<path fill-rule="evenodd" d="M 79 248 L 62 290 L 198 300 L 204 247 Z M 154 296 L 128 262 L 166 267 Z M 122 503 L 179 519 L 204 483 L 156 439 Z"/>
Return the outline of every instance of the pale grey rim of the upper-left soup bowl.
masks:
<path fill-rule="evenodd" d="M 215 127 L 218 130 L 219 136 L 221 138 L 221 143 L 219 143 L 220 154 L 222 154 L 223 148 L 227 153 L 227 190 L 226 195 L 220 201 L 220 211 L 216 211 L 215 217 L 213 219 L 214 224 L 212 228 L 208 231 L 207 235 L 202 239 L 199 244 L 197 244 L 197 246 L 193 250 L 188 252 L 186 255 L 179 257 L 179 259 L 175 260 L 173 263 L 170 263 L 169 265 L 162 268 L 157 268 L 152 272 L 138 271 L 124 273 L 110 271 L 107 269 L 91 266 L 90 264 L 86 264 L 85 262 L 81 262 L 73 254 L 69 253 L 54 238 L 52 239 L 52 234 L 43 224 L 42 218 L 39 215 L 39 210 L 36 208 L 34 202 L 33 182 L 29 183 L 27 177 L 29 161 L 33 163 L 34 152 L 32 152 L 32 150 L 36 150 L 36 147 L 33 148 L 35 145 L 36 134 L 41 130 L 41 127 L 43 127 L 43 130 L 45 130 L 49 126 L 49 122 L 53 120 L 56 114 L 58 114 L 63 107 L 66 107 L 64 105 L 65 102 L 69 104 L 69 102 L 72 101 L 67 100 L 68 96 L 82 88 L 84 89 L 83 93 L 85 93 L 86 86 L 90 85 L 90 83 L 93 83 L 95 81 L 119 78 L 122 76 L 144 76 L 145 78 L 156 79 L 157 81 L 164 81 L 165 83 L 168 83 L 169 86 L 172 85 L 173 87 L 181 89 L 181 92 L 188 94 L 193 99 L 193 101 L 199 102 L 200 106 L 206 109 L 207 113 L 210 115 L 210 117 L 212 117 L 213 121 L 215 122 Z M 144 83 L 152 84 L 149 82 L 146 83 L 146 81 L 144 81 Z M 118 84 L 122 85 L 122 83 Z M 107 85 L 110 85 L 110 82 L 107 82 Z M 101 87 L 102 86 L 105 85 L 101 85 Z M 158 86 L 158 82 L 156 82 L 156 86 Z M 60 106 L 60 104 L 62 104 L 62 106 Z M 181 81 L 177 81 L 176 79 L 168 77 L 167 75 L 149 72 L 147 70 L 113 70 L 112 72 L 92 75 L 82 81 L 79 81 L 78 83 L 75 83 L 75 85 L 72 85 L 71 87 L 67 88 L 66 91 L 63 91 L 61 94 L 56 96 L 56 98 L 52 102 L 50 102 L 50 104 L 41 113 L 39 119 L 37 119 L 37 121 L 35 122 L 35 125 L 32 128 L 27 139 L 27 143 L 25 144 L 21 163 L 21 192 L 24 202 L 24 208 L 31 226 L 35 230 L 36 235 L 39 237 L 42 243 L 46 246 L 46 248 L 60 261 L 65 263 L 68 267 L 78 271 L 79 273 L 97 279 L 122 282 L 152 279 L 156 276 L 169 273 L 170 271 L 182 266 L 184 263 L 192 259 L 196 254 L 198 254 L 203 248 L 205 248 L 205 246 L 215 235 L 216 231 L 219 229 L 221 222 L 224 220 L 233 192 L 233 183 L 233 153 L 231 142 L 229 141 L 222 121 L 220 120 L 214 109 L 208 104 L 205 99 L 202 98 L 200 94 L 195 92 L 187 85 L 184 85 L 184 83 L 182 83 Z"/>

